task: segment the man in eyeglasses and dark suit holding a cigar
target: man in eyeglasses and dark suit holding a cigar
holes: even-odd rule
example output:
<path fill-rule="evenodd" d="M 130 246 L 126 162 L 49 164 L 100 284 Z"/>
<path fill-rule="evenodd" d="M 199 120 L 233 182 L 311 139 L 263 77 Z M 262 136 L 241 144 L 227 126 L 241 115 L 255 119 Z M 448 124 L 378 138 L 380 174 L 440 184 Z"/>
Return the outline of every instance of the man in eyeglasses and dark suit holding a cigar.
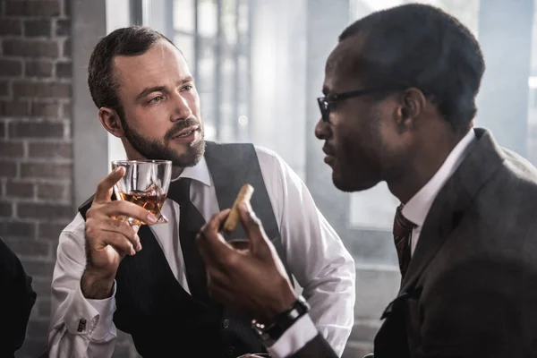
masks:
<path fill-rule="evenodd" d="M 328 57 L 315 134 L 334 184 L 358 192 L 385 181 L 401 201 L 402 282 L 375 358 L 537 356 L 537 170 L 473 129 L 483 72 L 471 32 L 423 4 L 354 22 Z M 212 296 L 256 317 L 273 357 L 336 357 L 251 207 L 241 208 L 248 255 L 223 243 L 226 216 L 198 236 Z"/>

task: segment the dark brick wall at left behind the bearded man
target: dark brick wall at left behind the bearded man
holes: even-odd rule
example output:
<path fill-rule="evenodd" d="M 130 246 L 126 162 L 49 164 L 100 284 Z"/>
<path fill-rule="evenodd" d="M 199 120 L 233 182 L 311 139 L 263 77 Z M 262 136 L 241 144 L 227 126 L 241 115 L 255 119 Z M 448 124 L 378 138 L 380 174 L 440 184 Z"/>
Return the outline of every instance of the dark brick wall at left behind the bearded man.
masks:
<path fill-rule="evenodd" d="M 70 0 L 0 0 L 0 236 L 38 301 L 18 357 L 46 345 L 58 235 L 72 219 Z"/>

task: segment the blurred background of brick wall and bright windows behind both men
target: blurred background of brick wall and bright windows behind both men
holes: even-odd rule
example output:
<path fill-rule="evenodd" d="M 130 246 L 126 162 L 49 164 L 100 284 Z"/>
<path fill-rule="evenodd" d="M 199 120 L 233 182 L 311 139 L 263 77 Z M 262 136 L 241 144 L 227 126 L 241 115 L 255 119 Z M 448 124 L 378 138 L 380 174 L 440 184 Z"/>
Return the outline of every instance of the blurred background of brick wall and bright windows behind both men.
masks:
<path fill-rule="evenodd" d="M 86 83 L 90 52 L 112 30 L 145 24 L 175 41 L 197 81 L 207 139 L 274 149 L 308 185 L 356 260 L 355 327 L 345 357 L 371 351 L 399 285 L 391 226 L 398 202 L 379 184 L 334 189 L 313 135 L 324 64 L 352 21 L 403 0 L 0 0 L 0 235 L 34 278 L 38 302 L 17 357 L 46 345 L 58 235 L 124 158 Z M 479 39 L 487 70 L 478 126 L 537 162 L 533 0 L 430 0 Z M 535 39 L 534 39 L 535 38 Z M 4 293 L 2 293 L 4 294 Z M 137 357 L 120 335 L 115 357 Z"/>

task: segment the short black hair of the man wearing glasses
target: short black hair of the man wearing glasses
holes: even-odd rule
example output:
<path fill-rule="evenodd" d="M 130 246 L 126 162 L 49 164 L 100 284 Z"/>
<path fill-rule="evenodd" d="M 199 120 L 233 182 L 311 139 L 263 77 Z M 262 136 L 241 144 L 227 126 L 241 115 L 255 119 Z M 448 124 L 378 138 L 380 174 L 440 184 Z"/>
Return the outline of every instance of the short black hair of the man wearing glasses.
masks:
<path fill-rule="evenodd" d="M 415 87 L 453 128 L 470 127 L 485 64 L 473 34 L 453 16 L 405 4 L 355 21 L 339 41 L 363 34 L 358 75 L 366 86 Z"/>

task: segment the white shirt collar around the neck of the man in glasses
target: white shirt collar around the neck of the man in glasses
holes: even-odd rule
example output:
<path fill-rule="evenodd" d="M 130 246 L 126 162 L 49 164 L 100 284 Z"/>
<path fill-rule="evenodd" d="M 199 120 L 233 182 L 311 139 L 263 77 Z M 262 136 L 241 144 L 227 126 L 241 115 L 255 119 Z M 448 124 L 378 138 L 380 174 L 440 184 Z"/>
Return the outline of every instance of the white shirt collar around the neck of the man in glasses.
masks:
<path fill-rule="evenodd" d="M 423 222 L 429 213 L 432 202 L 435 200 L 440 189 L 442 189 L 444 183 L 447 182 L 447 179 L 455 173 L 456 168 L 465 158 L 468 147 L 474 140 L 475 133 L 472 129 L 468 131 L 465 137 L 451 150 L 444 161 L 444 164 L 440 166 L 435 175 L 432 175 L 429 182 L 408 200 L 403 208 L 404 217 L 412 221 L 416 226 L 423 226 Z"/>

